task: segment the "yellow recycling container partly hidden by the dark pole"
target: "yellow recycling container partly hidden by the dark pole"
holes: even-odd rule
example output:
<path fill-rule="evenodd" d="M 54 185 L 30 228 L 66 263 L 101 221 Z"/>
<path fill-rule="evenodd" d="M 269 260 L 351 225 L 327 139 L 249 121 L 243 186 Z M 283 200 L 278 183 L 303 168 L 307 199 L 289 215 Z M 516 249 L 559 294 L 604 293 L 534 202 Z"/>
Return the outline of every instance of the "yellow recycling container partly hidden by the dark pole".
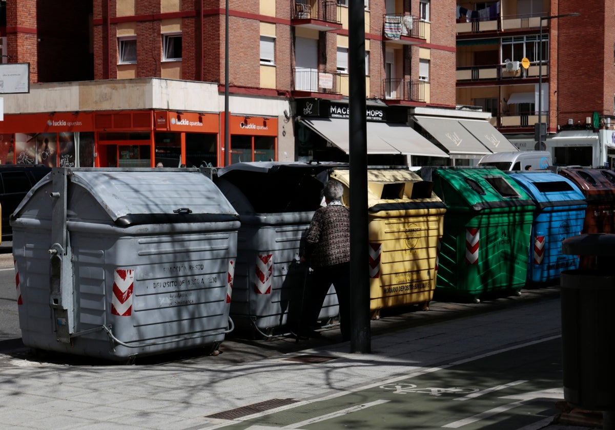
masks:
<path fill-rule="evenodd" d="M 350 173 L 334 169 L 331 179 L 344 184 L 349 206 Z M 434 296 L 438 244 L 446 205 L 433 183 L 403 168 L 370 168 L 367 172 L 370 310 L 420 305 Z"/>

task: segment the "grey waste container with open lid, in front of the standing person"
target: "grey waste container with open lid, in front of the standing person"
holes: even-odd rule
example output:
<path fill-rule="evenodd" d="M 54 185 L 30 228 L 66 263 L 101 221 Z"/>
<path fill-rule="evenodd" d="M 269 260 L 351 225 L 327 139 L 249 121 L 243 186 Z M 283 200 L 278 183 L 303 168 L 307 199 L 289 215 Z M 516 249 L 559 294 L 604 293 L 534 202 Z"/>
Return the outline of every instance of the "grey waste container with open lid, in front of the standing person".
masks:
<path fill-rule="evenodd" d="M 237 331 L 285 335 L 303 323 L 309 272 L 301 239 L 320 207 L 328 171 L 346 163 L 245 162 L 221 168 L 214 182 L 239 212 L 231 318 Z M 339 313 L 331 286 L 319 319 Z"/>

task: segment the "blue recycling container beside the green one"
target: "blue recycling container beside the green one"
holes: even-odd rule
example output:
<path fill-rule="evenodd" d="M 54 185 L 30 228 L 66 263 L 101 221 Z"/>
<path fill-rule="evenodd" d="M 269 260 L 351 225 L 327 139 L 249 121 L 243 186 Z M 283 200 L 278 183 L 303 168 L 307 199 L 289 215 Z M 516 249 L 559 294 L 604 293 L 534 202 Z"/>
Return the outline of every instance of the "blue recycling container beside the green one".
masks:
<path fill-rule="evenodd" d="M 579 256 L 561 252 L 561 242 L 583 229 L 587 201 L 574 182 L 547 171 L 509 173 L 534 203 L 527 283 L 531 286 L 560 278 L 563 270 L 579 268 Z"/>

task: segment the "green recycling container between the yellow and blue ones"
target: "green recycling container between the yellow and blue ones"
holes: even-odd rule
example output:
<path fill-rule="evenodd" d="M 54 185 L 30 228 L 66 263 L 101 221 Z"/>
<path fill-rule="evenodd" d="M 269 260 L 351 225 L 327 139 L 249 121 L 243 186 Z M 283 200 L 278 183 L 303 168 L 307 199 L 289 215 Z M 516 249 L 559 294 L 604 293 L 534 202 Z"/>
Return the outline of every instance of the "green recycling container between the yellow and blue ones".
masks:
<path fill-rule="evenodd" d="M 446 205 L 434 299 L 478 303 L 525 286 L 534 202 L 495 168 L 437 168 L 434 192 Z"/>

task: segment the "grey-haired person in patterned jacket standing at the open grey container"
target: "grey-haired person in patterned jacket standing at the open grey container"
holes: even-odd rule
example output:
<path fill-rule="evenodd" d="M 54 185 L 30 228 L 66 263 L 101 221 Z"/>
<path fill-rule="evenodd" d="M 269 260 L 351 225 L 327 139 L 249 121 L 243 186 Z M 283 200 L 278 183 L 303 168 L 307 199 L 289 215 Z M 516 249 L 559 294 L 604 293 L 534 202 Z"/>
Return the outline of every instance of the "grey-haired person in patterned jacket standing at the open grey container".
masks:
<path fill-rule="evenodd" d="M 315 326 L 331 284 L 339 302 L 339 325 L 343 340 L 350 339 L 350 211 L 341 203 L 341 182 L 327 181 L 323 197 L 327 206 L 317 209 L 306 234 L 305 256 L 314 269 L 308 324 Z"/>

